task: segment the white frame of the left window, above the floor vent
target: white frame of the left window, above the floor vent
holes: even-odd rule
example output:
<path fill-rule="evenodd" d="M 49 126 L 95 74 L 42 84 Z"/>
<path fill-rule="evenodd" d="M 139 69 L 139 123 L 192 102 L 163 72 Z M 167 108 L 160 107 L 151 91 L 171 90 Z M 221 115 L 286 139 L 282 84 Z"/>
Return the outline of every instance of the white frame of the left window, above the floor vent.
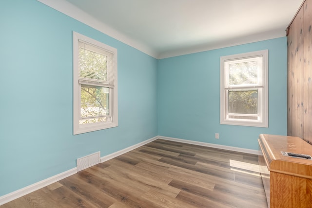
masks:
<path fill-rule="evenodd" d="M 107 52 L 113 53 L 113 70 L 114 70 L 114 87 L 110 87 L 110 113 L 111 121 L 95 122 L 88 124 L 79 124 L 80 119 L 80 88 L 79 84 L 79 64 L 78 64 L 78 50 L 79 40 L 85 43 L 90 43 Z M 102 42 L 94 40 L 85 35 L 81 35 L 73 31 L 73 134 L 82 134 L 101 129 L 107 129 L 118 126 L 118 96 L 117 96 L 117 49 L 108 46 Z"/>

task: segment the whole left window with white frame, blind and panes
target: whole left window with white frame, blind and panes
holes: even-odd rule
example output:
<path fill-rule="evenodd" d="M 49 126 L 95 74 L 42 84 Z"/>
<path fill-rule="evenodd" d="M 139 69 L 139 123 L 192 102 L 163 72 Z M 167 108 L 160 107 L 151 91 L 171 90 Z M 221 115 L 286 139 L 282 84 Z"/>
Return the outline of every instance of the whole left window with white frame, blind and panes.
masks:
<path fill-rule="evenodd" d="M 74 135 L 116 127 L 117 49 L 73 32 Z"/>

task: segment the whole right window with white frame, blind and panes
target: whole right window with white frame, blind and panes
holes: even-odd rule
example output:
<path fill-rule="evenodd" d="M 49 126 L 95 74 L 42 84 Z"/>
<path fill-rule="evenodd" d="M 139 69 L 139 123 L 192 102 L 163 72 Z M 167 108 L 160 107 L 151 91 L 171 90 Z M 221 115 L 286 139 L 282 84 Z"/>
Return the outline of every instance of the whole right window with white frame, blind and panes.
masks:
<path fill-rule="evenodd" d="M 268 50 L 220 58 L 220 123 L 268 127 Z"/>

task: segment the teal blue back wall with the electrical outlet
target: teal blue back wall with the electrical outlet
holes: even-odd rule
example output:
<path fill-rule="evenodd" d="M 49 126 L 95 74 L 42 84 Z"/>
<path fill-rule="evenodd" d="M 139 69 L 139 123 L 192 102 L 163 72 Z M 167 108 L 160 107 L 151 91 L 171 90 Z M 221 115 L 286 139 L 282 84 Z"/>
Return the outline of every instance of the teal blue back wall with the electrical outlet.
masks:
<path fill-rule="evenodd" d="M 287 134 L 287 39 L 158 61 L 158 135 L 258 149 L 259 134 Z M 220 124 L 220 56 L 269 50 L 269 128 Z M 219 133 L 220 139 L 215 139 Z"/>

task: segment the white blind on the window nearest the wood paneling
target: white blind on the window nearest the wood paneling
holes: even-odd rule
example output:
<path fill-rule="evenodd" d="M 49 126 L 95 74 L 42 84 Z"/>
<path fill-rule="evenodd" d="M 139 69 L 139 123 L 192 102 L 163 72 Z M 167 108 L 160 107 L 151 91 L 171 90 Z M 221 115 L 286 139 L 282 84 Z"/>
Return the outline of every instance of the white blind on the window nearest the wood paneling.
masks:
<path fill-rule="evenodd" d="M 262 65 L 262 56 L 225 61 L 225 88 L 262 87 Z"/>

